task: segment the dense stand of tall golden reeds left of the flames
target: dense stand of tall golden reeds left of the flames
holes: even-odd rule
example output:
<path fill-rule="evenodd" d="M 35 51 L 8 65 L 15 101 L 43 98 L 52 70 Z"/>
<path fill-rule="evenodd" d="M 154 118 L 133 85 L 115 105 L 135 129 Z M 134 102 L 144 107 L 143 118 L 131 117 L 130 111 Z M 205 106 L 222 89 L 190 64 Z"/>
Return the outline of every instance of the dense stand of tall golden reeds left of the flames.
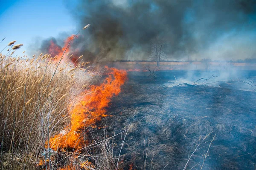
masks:
<path fill-rule="evenodd" d="M 49 58 L 0 54 L 1 169 L 35 169 L 47 138 L 69 123 L 70 101 L 97 77 L 63 63 L 49 84 L 56 68 Z"/>

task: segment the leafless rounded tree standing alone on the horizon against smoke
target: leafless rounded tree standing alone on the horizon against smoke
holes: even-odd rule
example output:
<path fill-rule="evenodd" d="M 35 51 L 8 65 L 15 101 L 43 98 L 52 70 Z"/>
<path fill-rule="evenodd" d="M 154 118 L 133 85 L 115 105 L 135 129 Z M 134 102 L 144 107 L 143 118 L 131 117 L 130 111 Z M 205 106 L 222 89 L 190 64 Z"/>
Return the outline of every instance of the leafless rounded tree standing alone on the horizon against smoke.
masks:
<path fill-rule="evenodd" d="M 163 52 L 166 43 L 163 39 L 155 38 L 151 41 L 150 46 L 150 58 L 157 62 L 157 68 L 160 68 L 160 61 L 163 58 L 166 58 L 165 53 Z"/>

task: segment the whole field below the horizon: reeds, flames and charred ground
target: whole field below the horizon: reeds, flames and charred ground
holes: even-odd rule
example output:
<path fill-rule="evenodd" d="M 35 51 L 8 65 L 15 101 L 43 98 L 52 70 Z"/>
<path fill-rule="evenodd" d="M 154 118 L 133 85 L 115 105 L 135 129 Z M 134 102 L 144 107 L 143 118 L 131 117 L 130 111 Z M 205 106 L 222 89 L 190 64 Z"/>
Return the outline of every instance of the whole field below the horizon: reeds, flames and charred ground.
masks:
<path fill-rule="evenodd" d="M 55 60 L 1 55 L 2 169 L 255 167 L 255 71 L 148 76 Z"/>

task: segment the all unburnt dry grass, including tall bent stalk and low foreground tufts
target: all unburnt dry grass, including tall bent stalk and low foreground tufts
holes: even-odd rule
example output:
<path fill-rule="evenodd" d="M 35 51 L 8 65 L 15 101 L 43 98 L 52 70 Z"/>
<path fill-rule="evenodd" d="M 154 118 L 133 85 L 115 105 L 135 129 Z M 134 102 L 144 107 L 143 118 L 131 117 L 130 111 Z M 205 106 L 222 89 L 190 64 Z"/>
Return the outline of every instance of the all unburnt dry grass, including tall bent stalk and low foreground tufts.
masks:
<path fill-rule="evenodd" d="M 119 170 L 113 156 L 116 135 L 93 138 L 83 152 L 56 152 L 49 148 L 49 139 L 70 124 L 68 108 L 72 108 L 76 96 L 99 81 L 101 74 L 93 69 L 91 72 L 86 66 L 89 62 L 76 63 L 77 60 L 76 67 L 61 62 L 69 44 L 57 61 L 58 56 L 52 58 L 43 53 L 14 58 L 15 50 L 23 46 L 15 43 L 16 40 L 7 45 L 11 47 L 6 55 L 1 54 L 5 48 L 0 52 L 0 168 Z"/>

